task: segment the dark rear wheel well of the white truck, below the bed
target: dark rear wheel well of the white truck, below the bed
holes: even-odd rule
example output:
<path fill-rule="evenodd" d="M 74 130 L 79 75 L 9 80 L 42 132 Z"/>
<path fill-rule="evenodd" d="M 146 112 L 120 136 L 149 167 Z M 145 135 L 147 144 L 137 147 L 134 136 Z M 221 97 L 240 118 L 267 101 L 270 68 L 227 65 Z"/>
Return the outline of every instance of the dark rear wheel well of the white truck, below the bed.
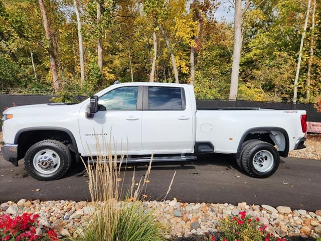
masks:
<path fill-rule="evenodd" d="M 276 145 L 281 157 L 287 157 L 289 152 L 289 137 L 282 128 L 253 128 L 244 133 L 237 152 L 240 153 L 242 144 L 247 140 L 261 140 Z"/>

